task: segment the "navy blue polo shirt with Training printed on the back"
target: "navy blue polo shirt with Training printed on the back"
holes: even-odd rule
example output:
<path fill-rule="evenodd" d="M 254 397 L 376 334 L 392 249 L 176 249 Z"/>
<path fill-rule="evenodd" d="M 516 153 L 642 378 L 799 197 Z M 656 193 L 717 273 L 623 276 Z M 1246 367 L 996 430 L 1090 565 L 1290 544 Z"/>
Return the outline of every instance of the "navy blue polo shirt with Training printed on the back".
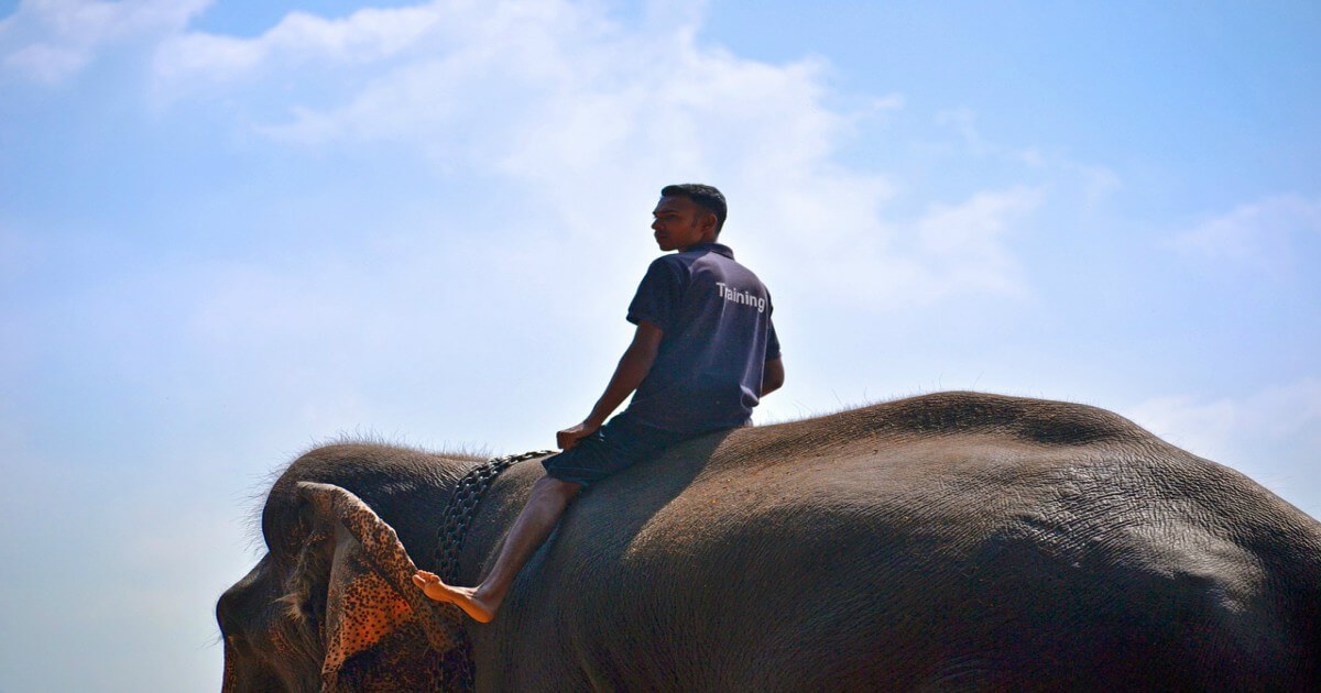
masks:
<path fill-rule="evenodd" d="M 629 322 L 660 327 L 651 371 L 626 413 L 649 426 L 703 433 L 741 426 L 779 358 L 770 293 L 719 243 L 658 257 L 629 304 Z"/>

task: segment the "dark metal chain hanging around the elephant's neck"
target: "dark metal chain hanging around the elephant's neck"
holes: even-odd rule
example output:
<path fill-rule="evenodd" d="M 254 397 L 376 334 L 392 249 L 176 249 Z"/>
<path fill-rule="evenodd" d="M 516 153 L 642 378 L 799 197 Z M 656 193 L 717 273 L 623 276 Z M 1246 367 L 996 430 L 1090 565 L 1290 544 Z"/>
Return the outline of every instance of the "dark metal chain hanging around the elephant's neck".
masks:
<path fill-rule="evenodd" d="M 436 574 L 446 585 L 453 585 L 458 579 L 458 552 L 464 548 L 464 537 L 468 536 L 468 525 L 477 516 L 477 506 L 482 496 L 495 482 L 502 471 L 526 459 L 535 459 L 555 454 L 553 450 L 535 450 L 517 455 L 493 457 L 486 462 L 468 470 L 468 474 L 454 484 L 449 503 L 445 504 L 445 516 L 436 532 Z M 460 631 L 464 632 L 464 631 Z M 468 636 L 453 652 L 445 656 L 445 668 L 452 676 L 446 676 L 448 682 L 454 684 L 457 690 L 476 689 L 476 671 L 473 665 L 473 644 Z"/>

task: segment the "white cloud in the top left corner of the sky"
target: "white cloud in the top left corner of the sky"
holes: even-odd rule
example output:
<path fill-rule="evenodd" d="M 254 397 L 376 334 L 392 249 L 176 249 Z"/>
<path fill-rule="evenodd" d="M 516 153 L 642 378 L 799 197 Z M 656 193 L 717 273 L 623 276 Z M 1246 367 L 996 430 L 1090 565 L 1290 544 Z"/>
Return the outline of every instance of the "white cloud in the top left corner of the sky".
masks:
<path fill-rule="evenodd" d="M 0 24 L 0 55 L 11 71 L 57 83 L 110 45 L 181 30 L 209 4 L 211 0 L 24 0 Z"/>

